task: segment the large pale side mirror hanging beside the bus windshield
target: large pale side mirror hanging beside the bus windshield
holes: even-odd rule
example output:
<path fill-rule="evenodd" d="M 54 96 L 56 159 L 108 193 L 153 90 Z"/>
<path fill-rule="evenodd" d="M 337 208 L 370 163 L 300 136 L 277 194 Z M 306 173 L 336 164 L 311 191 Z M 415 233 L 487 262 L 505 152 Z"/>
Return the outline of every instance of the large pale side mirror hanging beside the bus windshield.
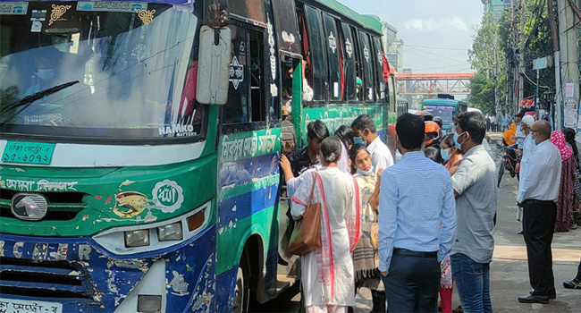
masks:
<path fill-rule="evenodd" d="M 217 33 L 216 33 L 217 32 Z M 228 100 L 231 30 L 202 26 L 199 35 L 196 99 L 205 105 L 225 105 Z"/>

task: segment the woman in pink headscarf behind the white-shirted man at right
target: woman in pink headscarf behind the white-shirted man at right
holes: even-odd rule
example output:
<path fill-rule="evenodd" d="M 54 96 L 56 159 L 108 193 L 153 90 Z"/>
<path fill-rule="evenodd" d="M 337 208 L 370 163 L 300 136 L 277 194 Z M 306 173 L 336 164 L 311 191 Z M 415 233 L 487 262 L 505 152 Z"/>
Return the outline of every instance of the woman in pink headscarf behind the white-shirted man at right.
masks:
<path fill-rule="evenodd" d="M 568 232 L 573 224 L 573 191 L 575 190 L 575 159 L 573 150 L 567 147 L 560 131 L 553 131 L 551 142 L 559 148 L 562 160 L 560 172 L 559 199 L 557 199 L 557 220 L 555 232 Z"/>

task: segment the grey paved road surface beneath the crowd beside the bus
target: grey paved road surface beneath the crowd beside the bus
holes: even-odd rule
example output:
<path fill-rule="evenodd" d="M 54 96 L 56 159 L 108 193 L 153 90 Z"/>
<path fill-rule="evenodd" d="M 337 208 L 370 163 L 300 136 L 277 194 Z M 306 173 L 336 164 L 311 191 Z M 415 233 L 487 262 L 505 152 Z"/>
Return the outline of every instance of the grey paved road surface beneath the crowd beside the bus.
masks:
<path fill-rule="evenodd" d="M 493 136 L 493 139 L 498 135 Z M 492 145 L 494 147 L 494 145 Z M 498 158 L 498 152 L 496 153 Z M 568 233 L 555 233 L 552 253 L 557 299 L 548 305 L 518 303 L 518 296 L 530 291 L 526 265 L 525 241 L 518 234 L 516 221 L 518 181 L 505 172 L 498 194 L 498 224 L 494 233 L 495 249 L 491 264 L 491 294 L 494 312 L 581 312 L 581 290 L 568 290 L 562 282 L 572 279 L 581 257 L 581 227 Z M 371 293 L 358 292 L 356 313 L 371 309 Z M 453 307 L 459 306 L 458 293 L 454 291 Z M 292 300 L 274 301 L 264 311 L 298 312 L 299 296 Z"/>

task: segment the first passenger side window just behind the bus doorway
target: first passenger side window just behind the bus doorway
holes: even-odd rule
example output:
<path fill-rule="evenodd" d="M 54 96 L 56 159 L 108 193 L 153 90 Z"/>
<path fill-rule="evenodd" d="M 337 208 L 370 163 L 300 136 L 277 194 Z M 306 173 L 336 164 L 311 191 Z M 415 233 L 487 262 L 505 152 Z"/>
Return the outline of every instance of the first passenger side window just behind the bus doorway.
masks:
<path fill-rule="evenodd" d="M 307 64 L 307 66 L 311 67 L 311 72 L 313 73 L 312 88 L 315 92 L 313 100 L 324 101 L 327 96 L 327 66 L 324 60 L 321 17 L 316 9 L 308 5 L 305 5 L 305 17 L 307 18 L 308 41 L 310 43 L 308 52 L 311 56 L 311 63 Z"/>

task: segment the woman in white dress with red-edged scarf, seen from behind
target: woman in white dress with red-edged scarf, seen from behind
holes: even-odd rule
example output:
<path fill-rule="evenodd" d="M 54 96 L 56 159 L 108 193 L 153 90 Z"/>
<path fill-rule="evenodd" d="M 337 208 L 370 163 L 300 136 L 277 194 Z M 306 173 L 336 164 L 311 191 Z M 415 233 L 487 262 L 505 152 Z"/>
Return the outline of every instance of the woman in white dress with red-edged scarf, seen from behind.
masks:
<path fill-rule="evenodd" d="M 353 261 L 350 251 L 361 235 L 361 199 L 355 179 L 337 167 L 341 141 L 327 138 L 321 144 L 319 171 L 300 182 L 292 195 L 290 213 L 299 220 L 305 213 L 316 177 L 312 203 L 321 203 L 321 248 L 300 258 L 301 280 L 307 312 L 347 312 L 355 305 Z"/>

